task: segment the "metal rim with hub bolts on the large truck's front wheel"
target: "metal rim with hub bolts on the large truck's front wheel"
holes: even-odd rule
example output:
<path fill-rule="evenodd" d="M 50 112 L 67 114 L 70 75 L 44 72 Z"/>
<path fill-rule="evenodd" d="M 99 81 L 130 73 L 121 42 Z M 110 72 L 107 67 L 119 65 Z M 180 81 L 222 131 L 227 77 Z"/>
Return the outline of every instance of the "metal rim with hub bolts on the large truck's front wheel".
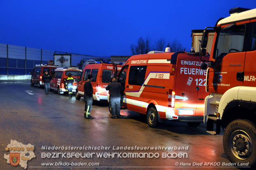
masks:
<path fill-rule="evenodd" d="M 232 132 L 229 139 L 229 146 L 233 155 L 240 160 L 249 158 L 253 149 L 250 136 L 243 130 Z"/>

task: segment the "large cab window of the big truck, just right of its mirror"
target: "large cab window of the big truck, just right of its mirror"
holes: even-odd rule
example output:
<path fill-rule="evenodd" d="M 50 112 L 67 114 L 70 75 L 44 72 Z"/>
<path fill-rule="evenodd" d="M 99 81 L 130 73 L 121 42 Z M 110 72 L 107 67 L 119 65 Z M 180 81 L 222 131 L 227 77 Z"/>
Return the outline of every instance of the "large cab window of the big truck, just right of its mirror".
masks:
<path fill-rule="evenodd" d="M 242 52 L 244 47 L 245 25 L 233 26 L 220 31 L 214 52 L 214 59 L 221 59 L 231 52 Z"/>

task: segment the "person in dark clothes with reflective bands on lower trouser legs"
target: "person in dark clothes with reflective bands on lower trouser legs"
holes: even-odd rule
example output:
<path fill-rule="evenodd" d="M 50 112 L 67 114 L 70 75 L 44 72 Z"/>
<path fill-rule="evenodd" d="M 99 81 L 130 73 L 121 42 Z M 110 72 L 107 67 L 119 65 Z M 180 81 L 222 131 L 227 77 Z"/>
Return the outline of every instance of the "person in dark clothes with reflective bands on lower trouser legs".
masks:
<path fill-rule="evenodd" d="M 88 74 L 87 80 L 85 82 L 85 85 L 83 86 L 84 90 L 84 98 L 85 98 L 85 111 L 84 111 L 84 117 L 86 119 L 92 119 L 92 116 L 90 116 L 90 112 L 92 110 L 92 75 Z"/>

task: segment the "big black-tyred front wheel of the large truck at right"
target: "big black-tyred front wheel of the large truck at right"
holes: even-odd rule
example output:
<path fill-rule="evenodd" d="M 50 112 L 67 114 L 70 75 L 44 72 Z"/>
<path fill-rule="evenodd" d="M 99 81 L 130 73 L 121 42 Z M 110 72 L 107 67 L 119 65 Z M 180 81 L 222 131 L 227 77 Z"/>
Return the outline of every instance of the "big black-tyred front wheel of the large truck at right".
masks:
<path fill-rule="evenodd" d="M 223 148 L 232 163 L 248 163 L 256 166 L 256 125 L 250 120 L 237 119 L 225 129 Z"/>

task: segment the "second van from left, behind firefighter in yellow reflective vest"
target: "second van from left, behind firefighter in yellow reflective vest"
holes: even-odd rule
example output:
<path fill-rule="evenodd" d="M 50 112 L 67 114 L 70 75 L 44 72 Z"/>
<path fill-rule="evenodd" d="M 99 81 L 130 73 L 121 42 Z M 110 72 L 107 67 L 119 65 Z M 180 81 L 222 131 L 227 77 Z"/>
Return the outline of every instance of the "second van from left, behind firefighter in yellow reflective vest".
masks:
<path fill-rule="evenodd" d="M 66 78 L 69 73 L 74 78 L 73 92 L 76 92 L 77 80 L 80 78 L 82 70 L 77 67 L 59 67 L 55 69 L 52 80 L 50 81 L 50 90 L 57 90 L 58 94 L 68 92 Z"/>

